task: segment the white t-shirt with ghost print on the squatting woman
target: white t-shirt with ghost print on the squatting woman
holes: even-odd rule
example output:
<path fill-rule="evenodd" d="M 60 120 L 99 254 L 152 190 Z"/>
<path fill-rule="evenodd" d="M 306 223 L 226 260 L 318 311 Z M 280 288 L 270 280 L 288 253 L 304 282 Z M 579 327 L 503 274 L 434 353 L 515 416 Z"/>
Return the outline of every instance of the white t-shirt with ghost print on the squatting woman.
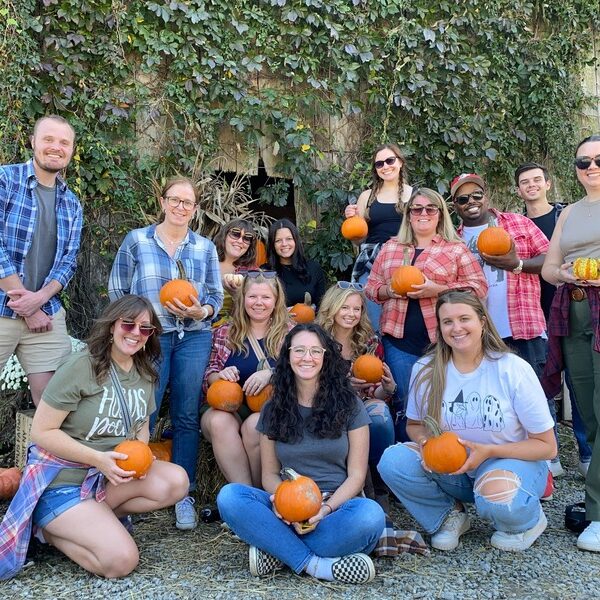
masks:
<path fill-rule="evenodd" d="M 429 361 L 413 367 L 406 416 L 421 421 L 421 389 L 413 381 Z M 534 370 L 516 354 L 498 360 L 484 358 L 475 371 L 459 373 L 450 361 L 442 400 L 442 429 L 483 444 L 505 444 L 527 439 L 527 432 L 542 433 L 554 427 L 548 401 Z"/>

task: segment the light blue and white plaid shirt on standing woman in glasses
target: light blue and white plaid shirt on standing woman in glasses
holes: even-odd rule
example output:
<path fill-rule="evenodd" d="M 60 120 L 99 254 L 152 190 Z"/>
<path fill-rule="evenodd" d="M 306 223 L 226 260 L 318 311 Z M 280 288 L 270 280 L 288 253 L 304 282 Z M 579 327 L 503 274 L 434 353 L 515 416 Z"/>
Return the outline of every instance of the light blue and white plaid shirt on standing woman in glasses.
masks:
<path fill-rule="evenodd" d="M 110 299 L 115 300 L 125 294 L 148 298 L 164 333 L 209 329 L 210 320 L 178 319 L 158 299 L 160 288 L 167 281 L 180 277 L 177 260 L 181 260 L 187 278 L 198 290 L 198 300 L 202 304 L 210 304 L 216 315 L 223 304 L 223 286 L 215 245 L 188 231 L 187 237 L 171 258 L 156 234 L 156 225 L 134 229 L 125 236 L 110 272 Z"/>

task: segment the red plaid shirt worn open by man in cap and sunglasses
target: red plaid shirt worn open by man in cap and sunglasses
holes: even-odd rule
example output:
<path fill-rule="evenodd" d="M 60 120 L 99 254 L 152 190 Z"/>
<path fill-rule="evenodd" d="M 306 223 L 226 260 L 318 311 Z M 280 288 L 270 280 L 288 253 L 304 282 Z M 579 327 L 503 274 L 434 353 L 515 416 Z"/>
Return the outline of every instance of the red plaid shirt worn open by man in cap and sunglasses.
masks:
<path fill-rule="evenodd" d="M 548 238 L 537 225 L 524 215 L 503 213 L 495 208 L 490 212 L 496 218 L 498 226 L 510 234 L 515 242 L 517 256 L 526 260 L 545 254 L 548 251 Z M 463 225 L 458 228 L 462 237 Z M 479 258 L 479 256 L 477 257 Z M 531 340 L 546 330 L 546 319 L 540 304 L 540 278 L 533 273 L 515 275 L 506 271 L 508 322 L 512 337 L 516 340 Z"/>

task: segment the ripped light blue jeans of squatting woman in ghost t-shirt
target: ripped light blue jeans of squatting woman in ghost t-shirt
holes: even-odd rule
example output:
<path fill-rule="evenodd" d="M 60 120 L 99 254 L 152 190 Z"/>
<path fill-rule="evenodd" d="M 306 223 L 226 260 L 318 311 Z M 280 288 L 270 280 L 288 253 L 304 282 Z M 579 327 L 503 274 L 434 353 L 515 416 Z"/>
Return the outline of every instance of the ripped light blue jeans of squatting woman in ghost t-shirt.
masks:
<path fill-rule="evenodd" d="M 411 447 L 412 446 L 412 447 Z M 379 473 L 385 483 L 427 533 L 435 533 L 455 501 L 474 503 L 477 514 L 497 531 L 520 533 L 540 517 L 540 497 L 546 486 L 546 461 L 491 458 L 463 475 L 429 473 L 421 465 L 416 445 L 390 446 L 381 457 Z M 486 475 L 491 471 L 495 473 Z M 501 471 L 501 473 L 498 473 Z M 506 482 L 512 491 L 486 497 L 485 486 Z"/>

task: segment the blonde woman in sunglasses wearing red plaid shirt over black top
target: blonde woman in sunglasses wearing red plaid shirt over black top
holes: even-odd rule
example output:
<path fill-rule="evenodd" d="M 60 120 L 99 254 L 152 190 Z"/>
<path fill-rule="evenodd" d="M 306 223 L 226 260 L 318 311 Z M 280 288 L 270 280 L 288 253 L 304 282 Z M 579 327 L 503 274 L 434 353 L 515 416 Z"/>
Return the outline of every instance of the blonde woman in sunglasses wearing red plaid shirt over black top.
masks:
<path fill-rule="evenodd" d="M 444 199 L 434 190 L 416 189 L 406 206 L 407 219 L 398 235 L 386 242 L 371 270 L 365 292 L 383 305 L 380 329 L 385 360 L 398 384 L 396 440 L 407 441 L 406 398 L 410 373 L 426 348 L 436 340 L 435 303 L 449 289 L 471 288 L 480 298 L 487 282 L 479 263 L 454 231 Z M 403 264 L 404 251 L 425 283 L 413 286 L 407 297 L 396 294 L 392 274 Z"/>

